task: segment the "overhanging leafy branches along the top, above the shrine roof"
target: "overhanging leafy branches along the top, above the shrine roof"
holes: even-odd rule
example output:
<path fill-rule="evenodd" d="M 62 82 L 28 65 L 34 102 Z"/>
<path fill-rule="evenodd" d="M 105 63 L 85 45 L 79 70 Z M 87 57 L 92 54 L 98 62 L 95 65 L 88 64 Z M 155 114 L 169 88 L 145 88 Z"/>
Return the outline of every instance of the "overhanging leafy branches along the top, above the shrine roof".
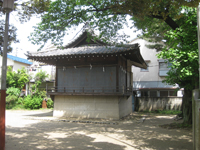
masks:
<path fill-rule="evenodd" d="M 43 15 L 41 23 L 35 27 L 30 36 L 34 44 L 44 45 L 49 39 L 57 45 L 62 45 L 62 38 L 71 27 L 85 24 L 88 28 L 100 32 L 99 38 L 105 41 L 111 37 L 113 41 L 119 37 L 117 31 L 126 23 L 126 15 L 143 20 L 146 17 L 157 18 L 166 22 L 172 29 L 178 24 L 173 19 L 182 17 L 181 6 L 196 7 L 196 0 L 55 0 L 49 5 L 48 11 Z M 172 18 L 173 17 L 173 18 Z"/>

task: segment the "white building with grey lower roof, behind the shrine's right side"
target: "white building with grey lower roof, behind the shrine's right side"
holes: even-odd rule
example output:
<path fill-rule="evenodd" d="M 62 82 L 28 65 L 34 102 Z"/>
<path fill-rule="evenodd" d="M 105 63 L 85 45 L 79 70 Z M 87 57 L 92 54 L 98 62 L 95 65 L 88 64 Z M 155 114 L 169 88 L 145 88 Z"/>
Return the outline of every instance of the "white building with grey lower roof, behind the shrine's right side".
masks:
<path fill-rule="evenodd" d="M 178 85 L 172 86 L 162 82 L 167 76 L 170 63 L 158 59 L 156 49 L 146 47 L 151 43 L 140 38 L 134 39 L 130 44 L 134 43 L 139 43 L 141 55 L 148 64 L 147 69 L 132 67 L 133 88 L 137 91 L 137 97 L 182 97 L 182 90 L 176 91 Z"/>

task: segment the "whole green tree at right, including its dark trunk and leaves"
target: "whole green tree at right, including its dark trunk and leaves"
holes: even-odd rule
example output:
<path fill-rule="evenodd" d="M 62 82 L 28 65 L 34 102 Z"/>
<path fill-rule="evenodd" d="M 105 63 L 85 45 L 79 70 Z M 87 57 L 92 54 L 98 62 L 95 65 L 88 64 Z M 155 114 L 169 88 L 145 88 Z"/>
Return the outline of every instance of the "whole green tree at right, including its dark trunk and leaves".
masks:
<path fill-rule="evenodd" d="M 198 43 L 197 43 L 197 10 L 192 7 L 181 7 L 177 12 L 181 17 L 175 18 L 177 27 L 171 28 L 163 20 L 149 17 L 144 20 L 134 19 L 138 29 L 143 31 L 142 37 L 154 45 L 148 46 L 156 48 L 159 58 L 171 62 L 172 66 L 168 76 L 164 80 L 168 84 L 177 83 L 180 88 L 184 88 L 182 103 L 184 123 L 192 123 L 192 90 L 198 88 Z M 145 24 L 146 22 L 146 24 Z"/>

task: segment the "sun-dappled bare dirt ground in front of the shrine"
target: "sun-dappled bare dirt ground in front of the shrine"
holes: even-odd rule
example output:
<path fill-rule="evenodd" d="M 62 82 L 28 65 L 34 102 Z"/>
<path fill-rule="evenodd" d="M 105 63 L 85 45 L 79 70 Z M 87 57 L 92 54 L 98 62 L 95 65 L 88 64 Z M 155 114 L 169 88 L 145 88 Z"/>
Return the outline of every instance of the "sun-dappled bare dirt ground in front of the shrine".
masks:
<path fill-rule="evenodd" d="M 164 129 L 173 116 L 57 119 L 51 110 L 6 111 L 6 150 L 192 150 L 192 130 Z"/>

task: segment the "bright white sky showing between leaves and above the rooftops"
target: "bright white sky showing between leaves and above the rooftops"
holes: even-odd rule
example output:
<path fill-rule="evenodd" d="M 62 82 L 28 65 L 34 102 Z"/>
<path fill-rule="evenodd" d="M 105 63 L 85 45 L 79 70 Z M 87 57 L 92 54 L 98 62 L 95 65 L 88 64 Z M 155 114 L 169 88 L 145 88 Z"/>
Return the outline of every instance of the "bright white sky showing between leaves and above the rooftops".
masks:
<path fill-rule="evenodd" d="M 27 51 L 37 51 L 37 49 L 40 47 L 38 45 L 33 45 L 29 40 L 28 40 L 28 36 L 30 35 L 31 32 L 33 32 L 33 26 L 36 26 L 37 23 L 40 22 L 40 18 L 37 17 L 32 17 L 30 21 L 25 22 L 25 23 L 20 23 L 20 21 L 18 20 L 15 12 L 11 12 L 10 13 L 10 19 L 9 19 L 9 24 L 13 24 L 16 28 L 17 28 L 17 38 L 19 40 L 19 43 L 12 43 L 12 47 L 13 47 L 13 51 L 12 53 L 9 53 L 13 56 L 17 56 L 17 57 L 21 57 L 21 58 L 27 58 L 26 55 L 24 55 L 25 53 L 27 53 Z M 132 23 L 129 22 L 129 24 L 131 25 Z M 81 28 L 79 27 L 79 29 L 77 31 L 79 31 Z M 122 30 L 121 32 L 124 32 L 128 35 L 130 35 L 131 37 L 129 38 L 129 40 L 134 39 L 137 37 L 137 33 L 133 33 L 134 29 L 130 29 L 125 27 L 124 30 Z M 76 33 L 74 33 L 75 35 Z M 71 37 L 65 37 L 65 41 L 70 41 Z M 46 44 L 45 46 L 50 45 L 51 43 Z"/>

